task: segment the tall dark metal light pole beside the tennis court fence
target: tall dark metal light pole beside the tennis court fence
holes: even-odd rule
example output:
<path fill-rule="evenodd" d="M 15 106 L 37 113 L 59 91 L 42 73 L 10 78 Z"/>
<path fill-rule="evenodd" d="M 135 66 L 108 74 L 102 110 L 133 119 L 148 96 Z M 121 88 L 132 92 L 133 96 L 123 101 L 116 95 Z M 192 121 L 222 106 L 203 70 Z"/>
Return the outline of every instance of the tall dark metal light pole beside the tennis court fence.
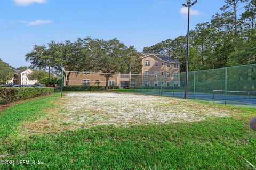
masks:
<path fill-rule="evenodd" d="M 188 98 L 188 56 L 189 56 L 189 19 L 190 19 L 190 7 L 195 5 L 197 0 L 191 4 L 191 0 L 187 0 L 187 5 L 182 4 L 184 7 L 188 7 L 188 33 L 187 33 L 187 56 L 186 56 L 186 75 L 185 75 L 185 92 L 184 98 Z"/>

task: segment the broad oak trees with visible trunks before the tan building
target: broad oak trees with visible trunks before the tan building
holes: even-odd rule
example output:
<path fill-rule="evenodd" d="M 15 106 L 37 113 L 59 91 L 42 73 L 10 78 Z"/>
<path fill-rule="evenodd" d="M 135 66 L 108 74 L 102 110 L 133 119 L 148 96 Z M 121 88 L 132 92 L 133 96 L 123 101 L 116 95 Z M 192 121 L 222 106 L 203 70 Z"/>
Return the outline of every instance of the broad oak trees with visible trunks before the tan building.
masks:
<path fill-rule="evenodd" d="M 99 71 L 107 79 L 116 72 L 138 74 L 141 71 L 141 61 L 133 46 L 125 46 L 117 39 L 101 40 L 90 37 L 71 42 L 56 43 L 51 41 L 46 45 L 34 45 L 33 50 L 26 54 L 26 61 L 38 69 L 51 67 L 62 71 Z M 69 80 L 68 72 L 67 80 Z M 67 81 L 68 83 L 68 81 Z"/>

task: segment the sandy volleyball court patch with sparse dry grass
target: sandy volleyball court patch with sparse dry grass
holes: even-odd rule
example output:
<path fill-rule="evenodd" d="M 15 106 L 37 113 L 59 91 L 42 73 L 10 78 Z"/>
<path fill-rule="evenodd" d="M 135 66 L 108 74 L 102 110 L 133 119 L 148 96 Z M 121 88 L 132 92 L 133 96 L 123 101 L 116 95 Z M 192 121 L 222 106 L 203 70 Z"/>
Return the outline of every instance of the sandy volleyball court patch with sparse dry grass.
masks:
<path fill-rule="evenodd" d="M 69 93 L 36 122 L 25 123 L 26 133 L 50 133 L 99 125 L 131 126 L 195 122 L 230 115 L 228 109 L 196 101 L 113 92 Z"/>

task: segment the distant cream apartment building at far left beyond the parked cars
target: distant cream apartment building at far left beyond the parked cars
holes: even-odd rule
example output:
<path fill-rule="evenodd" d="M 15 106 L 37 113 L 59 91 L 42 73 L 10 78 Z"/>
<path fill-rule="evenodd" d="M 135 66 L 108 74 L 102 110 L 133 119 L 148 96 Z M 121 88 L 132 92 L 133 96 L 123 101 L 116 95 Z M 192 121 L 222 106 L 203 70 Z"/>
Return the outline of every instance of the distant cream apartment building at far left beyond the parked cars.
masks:
<path fill-rule="evenodd" d="M 31 74 L 33 70 L 23 69 L 23 70 L 13 70 L 13 78 L 7 81 L 7 84 L 15 85 L 33 85 L 37 83 L 37 80 L 29 80 L 28 75 Z"/>

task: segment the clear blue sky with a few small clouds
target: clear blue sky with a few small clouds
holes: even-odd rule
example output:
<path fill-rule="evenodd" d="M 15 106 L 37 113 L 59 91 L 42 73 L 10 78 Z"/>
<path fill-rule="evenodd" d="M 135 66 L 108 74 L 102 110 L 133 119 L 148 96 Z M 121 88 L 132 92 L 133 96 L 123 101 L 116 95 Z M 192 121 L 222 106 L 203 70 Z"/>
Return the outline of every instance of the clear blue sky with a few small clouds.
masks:
<path fill-rule="evenodd" d="M 29 66 L 33 45 L 91 36 L 117 38 L 138 51 L 186 35 L 186 0 L 0 0 L 0 58 L 13 67 Z M 208 22 L 223 0 L 198 0 L 190 28 Z"/>

